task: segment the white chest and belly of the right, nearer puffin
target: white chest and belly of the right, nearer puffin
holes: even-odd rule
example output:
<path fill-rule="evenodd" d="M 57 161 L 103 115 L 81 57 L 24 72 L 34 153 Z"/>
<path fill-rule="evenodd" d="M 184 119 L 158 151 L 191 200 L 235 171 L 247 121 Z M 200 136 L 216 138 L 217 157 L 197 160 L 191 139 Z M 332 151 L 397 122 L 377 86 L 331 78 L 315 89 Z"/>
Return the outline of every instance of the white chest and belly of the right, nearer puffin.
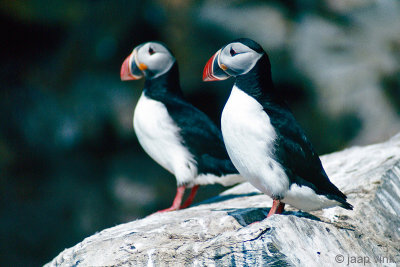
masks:
<path fill-rule="evenodd" d="M 271 158 L 276 132 L 263 107 L 234 86 L 222 112 L 221 128 L 228 154 L 240 174 L 263 193 L 283 196 L 289 180 Z"/>

